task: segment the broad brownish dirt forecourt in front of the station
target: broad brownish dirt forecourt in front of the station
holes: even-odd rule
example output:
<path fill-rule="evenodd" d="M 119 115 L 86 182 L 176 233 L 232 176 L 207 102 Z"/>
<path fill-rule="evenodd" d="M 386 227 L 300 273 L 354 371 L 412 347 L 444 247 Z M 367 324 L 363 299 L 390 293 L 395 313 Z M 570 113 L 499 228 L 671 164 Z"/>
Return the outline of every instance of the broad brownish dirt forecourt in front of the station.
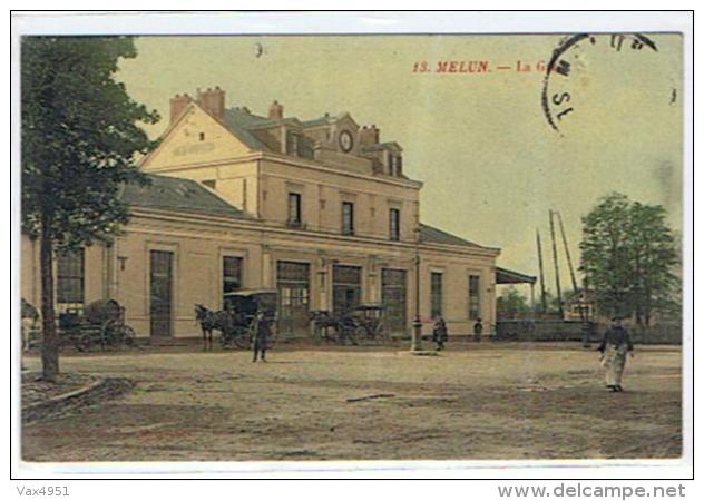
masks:
<path fill-rule="evenodd" d="M 26 426 L 28 461 L 675 458 L 681 351 L 645 347 L 624 393 L 574 344 L 467 343 L 441 356 L 274 351 L 65 356 L 129 394 Z M 26 364 L 38 370 L 39 361 Z"/>

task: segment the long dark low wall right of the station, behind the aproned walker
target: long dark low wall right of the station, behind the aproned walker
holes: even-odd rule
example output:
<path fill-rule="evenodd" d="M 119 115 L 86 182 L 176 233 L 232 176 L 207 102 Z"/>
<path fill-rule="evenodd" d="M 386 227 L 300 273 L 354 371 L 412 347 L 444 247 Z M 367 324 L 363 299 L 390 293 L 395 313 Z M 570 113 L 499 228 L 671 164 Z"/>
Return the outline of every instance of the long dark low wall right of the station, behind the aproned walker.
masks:
<path fill-rule="evenodd" d="M 637 344 L 682 344 L 682 325 L 661 324 L 651 327 L 629 328 Z M 589 341 L 602 340 L 604 327 L 589 324 Z M 505 320 L 497 324 L 499 341 L 583 341 L 584 325 L 580 321 L 532 321 Z"/>

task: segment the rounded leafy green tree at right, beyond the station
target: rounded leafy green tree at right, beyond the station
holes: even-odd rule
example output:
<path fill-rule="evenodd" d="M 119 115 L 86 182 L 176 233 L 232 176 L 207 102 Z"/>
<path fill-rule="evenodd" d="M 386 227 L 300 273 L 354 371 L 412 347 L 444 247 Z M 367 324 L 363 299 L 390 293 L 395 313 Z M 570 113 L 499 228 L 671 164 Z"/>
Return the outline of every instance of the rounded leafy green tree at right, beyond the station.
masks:
<path fill-rule="evenodd" d="M 647 325 L 654 312 L 677 304 L 679 253 L 665 217 L 662 206 L 622 194 L 607 195 L 583 217 L 580 269 L 602 312 L 635 314 Z"/>

